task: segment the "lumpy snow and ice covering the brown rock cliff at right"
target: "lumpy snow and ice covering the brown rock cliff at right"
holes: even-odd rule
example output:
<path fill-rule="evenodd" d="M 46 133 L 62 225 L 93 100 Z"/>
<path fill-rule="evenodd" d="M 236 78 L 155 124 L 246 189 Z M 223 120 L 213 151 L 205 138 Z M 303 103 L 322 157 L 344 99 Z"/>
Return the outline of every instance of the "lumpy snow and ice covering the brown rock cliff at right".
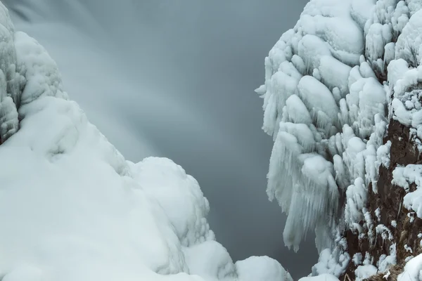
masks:
<path fill-rule="evenodd" d="M 391 237 L 366 207 L 380 166 L 390 165 L 391 143 L 383 142 L 390 120 L 411 127 L 404 141 L 422 148 L 421 8 L 421 0 L 312 0 L 265 59 L 256 91 L 264 98 L 263 129 L 274 138 L 267 193 L 288 215 L 286 246 L 297 250 L 315 232 L 320 258 L 312 275 L 339 277 L 354 262 L 363 280 L 395 264 L 395 245 L 376 265 L 350 256 L 345 233 L 369 243 L 371 233 Z M 421 164 L 394 172 L 396 185 L 416 184 L 404 207 L 419 218 L 421 178 Z M 421 259 L 407 268 L 416 264 Z"/>

